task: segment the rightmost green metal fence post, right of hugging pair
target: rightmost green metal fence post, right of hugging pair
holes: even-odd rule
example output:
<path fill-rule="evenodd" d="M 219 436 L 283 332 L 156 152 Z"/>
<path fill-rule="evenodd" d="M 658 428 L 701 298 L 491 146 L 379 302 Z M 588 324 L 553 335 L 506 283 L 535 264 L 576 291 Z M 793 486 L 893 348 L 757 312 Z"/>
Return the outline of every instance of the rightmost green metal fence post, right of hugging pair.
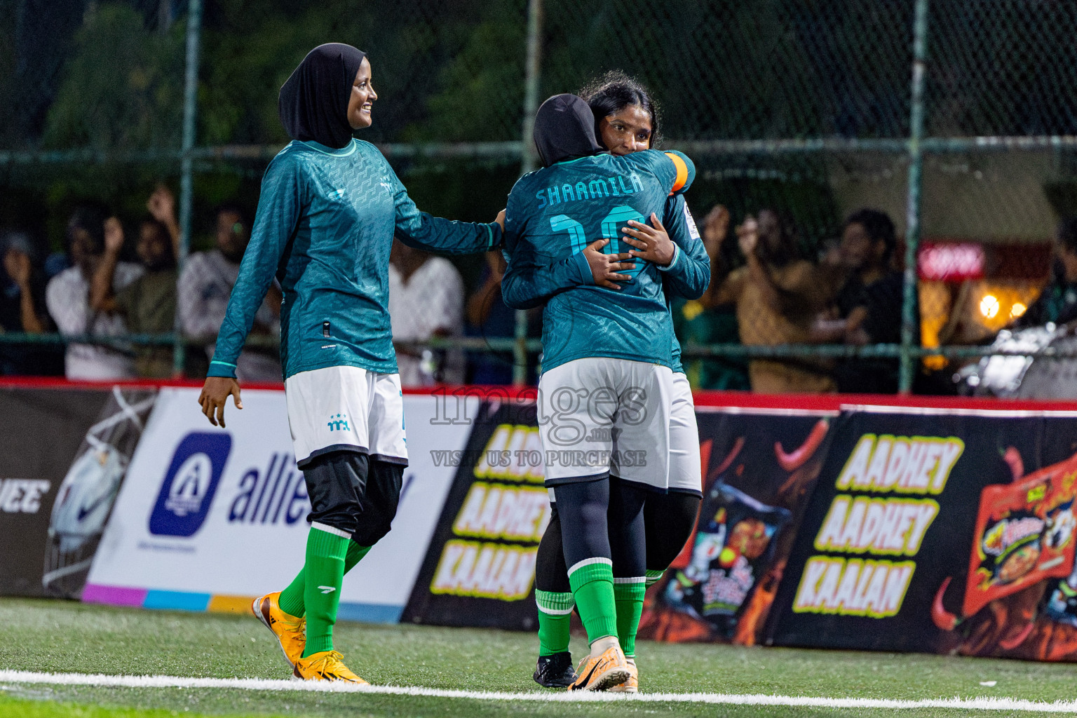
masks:
<path fill-rule="evenodd" d="M 917 248 L 920 244 L 920 188 L 924 153 L 924 64 L 927 57 L 927 0 L 917 0 L 912 22 L 912 86 L 909 110 L 909 186 L 905 214 L 905 280 L 901 301 L 901 364 L 898 391 L 908 394 L 919 357 L 910 351 L 918 336 Z"/>

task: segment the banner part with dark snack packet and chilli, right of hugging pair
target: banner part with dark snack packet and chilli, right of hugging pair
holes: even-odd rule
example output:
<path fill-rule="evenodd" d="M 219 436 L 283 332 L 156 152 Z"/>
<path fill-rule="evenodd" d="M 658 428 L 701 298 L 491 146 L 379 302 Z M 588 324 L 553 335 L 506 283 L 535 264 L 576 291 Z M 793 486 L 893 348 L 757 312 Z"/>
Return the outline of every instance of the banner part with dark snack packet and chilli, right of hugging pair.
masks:
<path fill-rule="evenodd" d="M 768 617 L 837 411 L 697 410 L 703 503 L 696 532 L 647 593 L 640 635 L 766 642 Z"/>

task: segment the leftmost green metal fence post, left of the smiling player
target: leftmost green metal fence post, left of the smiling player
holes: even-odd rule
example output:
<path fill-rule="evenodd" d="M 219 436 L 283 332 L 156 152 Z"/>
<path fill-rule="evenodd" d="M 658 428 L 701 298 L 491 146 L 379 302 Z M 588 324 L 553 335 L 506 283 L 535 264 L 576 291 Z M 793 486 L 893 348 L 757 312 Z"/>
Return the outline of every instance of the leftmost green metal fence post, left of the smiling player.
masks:
<path fill-rule="evenodd" d="M 198 112 L 198 47 L 201 41 L 201 0 L 187 3 L 187 57 L 183 80 L 183 149 L 180 159 L 180 256 L 176 257 L 177 296 L 176 322 L 172 344 L 172 374 L 183 375 L 186 350 L 183 346 L 183 326 L 180 322 L 179 276 L 191 249 L 192 151 L 195 145 L 195 118 Z"/>

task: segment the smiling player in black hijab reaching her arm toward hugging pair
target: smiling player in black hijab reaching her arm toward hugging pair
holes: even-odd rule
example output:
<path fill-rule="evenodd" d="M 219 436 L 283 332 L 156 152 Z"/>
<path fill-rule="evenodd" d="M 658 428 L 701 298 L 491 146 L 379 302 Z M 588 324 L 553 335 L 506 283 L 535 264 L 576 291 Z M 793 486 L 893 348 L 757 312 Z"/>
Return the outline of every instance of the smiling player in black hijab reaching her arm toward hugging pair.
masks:
<path fill-rule="evenodd" d="M 199 397 L 222 427 L 228 396 L 242 408 L 236 358 L 276 276 L 289 425 L 312 511 L 303 569 L 252 608 L 294 676 L 308 680 L 365 682 L 333 650 L 340 585 L 389 532 L 407 465 L 388 310 L 393 236 L 454 254 L 501 243 L 496 224 L 420 212 L 381 153 L 352 139 L 352 130 L 372 124 L 377 97 L 365 54 L 336 43 L 312 50 L 281 87 L 280 117 L 293 141 L 262 181 Z"/>

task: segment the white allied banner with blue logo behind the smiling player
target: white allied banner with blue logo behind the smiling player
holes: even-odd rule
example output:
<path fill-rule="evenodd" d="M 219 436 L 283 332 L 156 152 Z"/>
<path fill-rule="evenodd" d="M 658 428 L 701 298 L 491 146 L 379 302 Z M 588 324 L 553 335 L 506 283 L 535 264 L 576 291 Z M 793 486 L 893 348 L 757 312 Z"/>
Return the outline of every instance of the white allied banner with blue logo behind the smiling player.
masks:
<path fill-rule="evenodd" d="M 244 391 L 213 427 L 198 390 L 164 388 L 116 501 L 83 601 L 247 610 L 303 566 L 310 502 L 292 455 L 284 394 Z M 420 446 L 454 448 L 466 427 L 438 423 L 435 397 L 405 400 Z M 345 578 L 340 617 L 400 618 L 451 469 L 412 450 L 393 531 Z"/>

